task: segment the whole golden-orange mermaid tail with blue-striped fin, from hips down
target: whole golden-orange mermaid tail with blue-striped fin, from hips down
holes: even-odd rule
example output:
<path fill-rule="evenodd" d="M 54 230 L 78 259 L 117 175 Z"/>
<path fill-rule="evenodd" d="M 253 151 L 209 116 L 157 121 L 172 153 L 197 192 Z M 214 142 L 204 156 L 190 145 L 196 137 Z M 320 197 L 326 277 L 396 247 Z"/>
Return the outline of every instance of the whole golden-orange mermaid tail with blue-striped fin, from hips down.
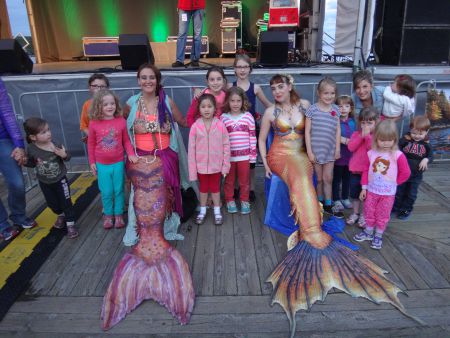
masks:
<path fill-rule="evenodd" d="M 295 133 L 275 137 L 267 156 L 272 172 L 289 187 L 293 216 L 300 224 L 299 231 L 289 238 L 288 253 L 267 279 L 273 286 L 272 304 L 280 304 L 289 319 L 291 337 L 296 312 L 323 301 L 333 287 L 352 297 L 390 303 L 409 316 L 397 297 L 402 290 L 384 276 L 386 271 L 322 230 L 313 168 L 299 137 Z"/>

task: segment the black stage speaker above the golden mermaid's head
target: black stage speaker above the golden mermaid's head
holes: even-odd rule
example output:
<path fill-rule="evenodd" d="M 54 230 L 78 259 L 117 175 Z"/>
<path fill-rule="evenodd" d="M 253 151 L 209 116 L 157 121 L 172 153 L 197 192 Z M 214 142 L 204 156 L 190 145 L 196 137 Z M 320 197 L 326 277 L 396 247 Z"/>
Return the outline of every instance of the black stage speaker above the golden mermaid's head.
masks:
<path fill-rule="evenodd" d="M 261 32 L 256 62 L 265 66 L 287 65 L 288 46 L 289 37 L 287 31 Z"/>

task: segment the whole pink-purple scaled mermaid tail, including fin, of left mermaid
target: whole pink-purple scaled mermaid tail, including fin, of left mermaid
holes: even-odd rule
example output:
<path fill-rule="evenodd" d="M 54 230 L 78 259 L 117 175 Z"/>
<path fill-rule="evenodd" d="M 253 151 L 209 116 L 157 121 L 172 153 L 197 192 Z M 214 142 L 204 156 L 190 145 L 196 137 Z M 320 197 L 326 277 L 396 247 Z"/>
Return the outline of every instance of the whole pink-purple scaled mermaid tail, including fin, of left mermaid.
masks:
<path fill-rule="evenodd" d="M 110 329 L 146 299 L 164 305 L 181 324 L 187 324 L 194 308 L 194 288 L 183 256 L 164 239 L 172 195 L 160 159 L 132 164 L 128 174 L 134 187 L 139 242 L 114 271 L 103 298 L 102 327 Z"/>

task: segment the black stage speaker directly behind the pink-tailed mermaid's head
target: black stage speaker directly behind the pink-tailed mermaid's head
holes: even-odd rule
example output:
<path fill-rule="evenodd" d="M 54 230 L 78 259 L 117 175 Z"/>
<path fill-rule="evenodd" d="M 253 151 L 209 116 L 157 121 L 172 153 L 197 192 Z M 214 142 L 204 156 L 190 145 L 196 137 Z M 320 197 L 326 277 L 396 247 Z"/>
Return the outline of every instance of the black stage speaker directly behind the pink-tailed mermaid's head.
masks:
<path fill-rule="evenodd" d="M 119 54 L 123 70 L 137 70 L 143 63 L 155 63 L 147 34 L 120 34 Z"/>

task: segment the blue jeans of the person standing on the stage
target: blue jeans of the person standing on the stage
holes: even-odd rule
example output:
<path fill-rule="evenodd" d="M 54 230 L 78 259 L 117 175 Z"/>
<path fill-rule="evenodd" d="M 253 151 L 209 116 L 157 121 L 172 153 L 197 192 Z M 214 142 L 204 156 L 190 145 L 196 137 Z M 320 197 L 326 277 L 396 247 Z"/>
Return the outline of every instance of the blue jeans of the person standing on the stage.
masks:
<path fill-rule="evenodd" d="M 183 21 L 183 14 L 187 20 Z M 186 39 L 188 35 L 189 22 L 192 19 L 194 26 L 194 43 L 191 51 L 191 60 L 198 61 L 200 59 L 200 51 L 202 47 L 202 26 L 204 9 L 196 9 L 194 11 L 178 10 L 178 39 L 177 39 L 177 61 L 183 62 L 184 49 L 186 48 Z"/>

